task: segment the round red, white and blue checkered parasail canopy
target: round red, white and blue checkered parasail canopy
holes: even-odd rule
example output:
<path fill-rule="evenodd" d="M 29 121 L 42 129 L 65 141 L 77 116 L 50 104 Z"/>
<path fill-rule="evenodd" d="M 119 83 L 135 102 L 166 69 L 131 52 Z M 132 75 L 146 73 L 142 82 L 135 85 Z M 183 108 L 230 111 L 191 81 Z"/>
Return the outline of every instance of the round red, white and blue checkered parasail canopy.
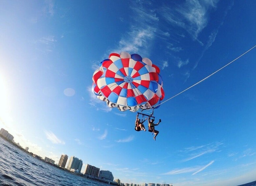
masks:
<path fill-rule="evenodd" d="M 157 108 L 164 98 L 159 72 L 150 59 L 138 54 L 111 53 L 94 72 L 92 91 L 120 111 Z"/>

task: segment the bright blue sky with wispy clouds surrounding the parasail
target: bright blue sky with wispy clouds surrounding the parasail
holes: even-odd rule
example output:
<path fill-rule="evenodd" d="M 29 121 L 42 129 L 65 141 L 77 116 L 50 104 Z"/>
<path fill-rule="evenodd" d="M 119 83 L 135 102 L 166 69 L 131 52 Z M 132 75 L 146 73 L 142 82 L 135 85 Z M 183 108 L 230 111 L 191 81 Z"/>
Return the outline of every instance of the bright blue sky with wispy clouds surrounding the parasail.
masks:
<path fill-rule="evenodd" d="M 91 85 L 110 53 L 138 53 L 160 68 L 167 100 L 255 46 L 255 7 L 2 0 L 0 127 L 42 157 L 76 156 L 124 183 L 254 181 L 255 48 L 156 109 L 156 141 L 134 130 L 136 113 L 108 108 Z"/>

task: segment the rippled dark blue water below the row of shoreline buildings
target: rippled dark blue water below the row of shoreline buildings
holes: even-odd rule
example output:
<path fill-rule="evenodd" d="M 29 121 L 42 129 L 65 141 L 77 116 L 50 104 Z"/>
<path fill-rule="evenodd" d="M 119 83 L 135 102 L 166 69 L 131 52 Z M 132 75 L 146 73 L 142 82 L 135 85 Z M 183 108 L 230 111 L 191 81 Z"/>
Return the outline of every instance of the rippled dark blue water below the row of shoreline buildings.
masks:
<path fill-rule="evenodd" d="M 12 146 L 0 137 L 0 185 L 107 186 L 108 184 L 50 166 Z"/>

